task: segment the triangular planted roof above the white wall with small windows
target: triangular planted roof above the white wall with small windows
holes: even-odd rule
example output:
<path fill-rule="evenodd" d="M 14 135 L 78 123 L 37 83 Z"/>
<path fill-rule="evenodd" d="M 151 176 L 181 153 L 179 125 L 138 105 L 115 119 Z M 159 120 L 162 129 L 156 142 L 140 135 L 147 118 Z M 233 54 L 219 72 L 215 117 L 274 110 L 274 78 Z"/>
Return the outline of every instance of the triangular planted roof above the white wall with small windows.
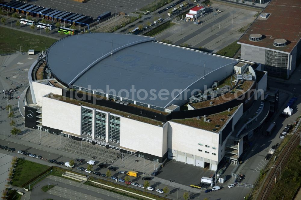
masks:
<path fill-rule="evenodd" d="M 228 121 L 228 119 L 231 117 L 228 117 L 229 114 L 233 114 L 237 108 L 239 106 L 236 106 L 234 108 L 231 109 L 231 111 L 224 111 L 221 113 L 217 113 L 217 114 L 213 114 L 213 115 L 209 115 L 207 116 L 207 120 L 211 120 L 210 122 L 204 122 L 204 117 L 200 117 L 200 119 L 198 120 L 197 117 L 193 117 L 193 118 L 187 118 L 187 119 L 179 119 L 179 120 L 171 120 L 172 122 L 176 122 L 176 123 L 180 123 L 180 124 L 184 124 L 187 126 L 192 126 L 198 129 L 203 129 L 203 130 L 207 130 L 207 131 L 211 131 L 211 132 L 216 132 L 218 133 L 219 130 L 223 127 L 223 125 Z M 221 119 L 226 119 L 224 121 L 221 121 Z M 216 125 L 219 125 L 219 127 L 217 127 Z M 216 131 L 213 131 L 212 129 L 216 129 Z"/>

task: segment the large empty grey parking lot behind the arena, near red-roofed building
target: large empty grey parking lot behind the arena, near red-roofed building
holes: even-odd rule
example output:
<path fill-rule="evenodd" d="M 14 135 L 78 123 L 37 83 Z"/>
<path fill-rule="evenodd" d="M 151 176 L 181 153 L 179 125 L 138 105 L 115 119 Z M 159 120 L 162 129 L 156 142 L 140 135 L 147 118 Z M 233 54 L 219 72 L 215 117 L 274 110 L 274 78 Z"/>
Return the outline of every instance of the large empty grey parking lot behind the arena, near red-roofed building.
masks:
<path fill-rule="evenodd" d="M 222 12 L 216 14 L 217 8 Z M 187 44 L 192 48 L 206 48 L 206 51 L 216 53 L 240 38 L 243 32 L 237 32 L 237 30 L 251 24 L 256 14 L 256 11 L 214 3 L 210 5 L 207 14 L 197 19 L 203 21 L 203 24 L 196 25 L 192 21 L 173 20 L 174 26 L 155 37 L 157 41 L 165 39 L 174 45 Z M 167 16 L 161 14 L 160 17 L 166 18 Z"/>

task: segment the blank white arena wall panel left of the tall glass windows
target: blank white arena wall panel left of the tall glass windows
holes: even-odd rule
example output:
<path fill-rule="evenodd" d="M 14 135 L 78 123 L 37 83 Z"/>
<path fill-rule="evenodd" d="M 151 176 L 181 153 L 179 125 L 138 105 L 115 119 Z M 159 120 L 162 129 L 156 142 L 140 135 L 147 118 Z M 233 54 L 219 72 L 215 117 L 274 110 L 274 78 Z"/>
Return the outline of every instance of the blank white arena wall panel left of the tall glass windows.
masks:
<path fill-rule="evenodd" d="M 81 135 L 81 106 L 42 97 L 43 126 Z"/>

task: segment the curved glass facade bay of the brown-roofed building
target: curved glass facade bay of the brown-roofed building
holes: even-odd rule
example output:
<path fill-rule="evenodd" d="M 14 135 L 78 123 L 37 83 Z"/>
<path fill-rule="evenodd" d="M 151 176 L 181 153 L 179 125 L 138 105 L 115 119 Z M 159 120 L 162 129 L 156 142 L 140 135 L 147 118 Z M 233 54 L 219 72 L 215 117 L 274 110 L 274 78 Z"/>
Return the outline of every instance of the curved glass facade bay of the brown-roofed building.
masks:
<path fill-rule="evenodd" d="M 282 77 L 287 74 L 288 54 L 265 50 L 265 70 L 268 75 Z"/>

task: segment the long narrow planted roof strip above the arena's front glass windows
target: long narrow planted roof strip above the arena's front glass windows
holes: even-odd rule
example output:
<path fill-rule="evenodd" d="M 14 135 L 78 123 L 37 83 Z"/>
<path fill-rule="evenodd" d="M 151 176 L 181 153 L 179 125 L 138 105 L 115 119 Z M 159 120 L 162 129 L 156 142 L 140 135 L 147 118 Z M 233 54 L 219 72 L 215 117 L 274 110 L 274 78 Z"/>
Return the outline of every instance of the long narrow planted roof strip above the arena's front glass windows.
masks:
<path fill-rule="evenodd" d="M 61 96 L 61 95 L 57 95 L 57 94 L 50 93 L 46 97 L 56 99 L 56 100 L 59 100 L 59 101 L 62 101 L 62 102 L 74 104 L 74 105 L 83 105 L 83 106 L 87 106 L 87 107 L 90 107 L 90 108 L 96 108 L 96 109 L 99 109 L 101 111 L 110 112 L 110 113 L 117 114 L 117 115 L 122 115 L 123 117 L 129 118 L 129 119 L 132 119 L 132 120 L 137 120 L 137 121 L 140 121 L 140 122 L 144 122 L 144 123 L 148 123 L 148 124 L 152 124 L 152 125 L 156 125 L 156 126 L 158 126 L 158 125 L 163 126 L 163 124 L 162 124 L 163 122 L 160 122 L 160 121 L 157 121 L 157 120 L 153 120 L 153 119 L 150 119 L 150 118 L 147 118 L 147 117 L 141 117 L 141 116 L 126 113 L 126 112 L 123 112 L 123 111 L 118 111 L 118 110 L 115 110 L 113 108 L 108 108 L 108 107 L 105 107 L 105 106 L 100 106 L 100 105 L 90 104 L 90 103 L 87 103 L 87 102 L 82 102 L 82 101 L 79 101 L 79 100 L 76 100 L 76 99 L 73 99 L 73 98 L 68 98 L 68 97 L 64 97 L 64 96 Z"/>

